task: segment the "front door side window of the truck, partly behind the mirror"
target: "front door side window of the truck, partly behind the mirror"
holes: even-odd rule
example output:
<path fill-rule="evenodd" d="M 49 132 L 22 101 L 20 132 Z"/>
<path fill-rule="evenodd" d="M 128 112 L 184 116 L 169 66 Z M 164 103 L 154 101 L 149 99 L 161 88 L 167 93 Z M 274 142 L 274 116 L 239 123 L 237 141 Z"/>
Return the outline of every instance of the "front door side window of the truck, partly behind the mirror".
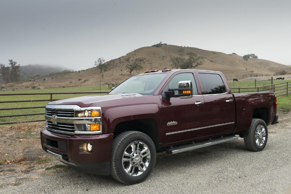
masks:
<path fill-rule="evenodd" d="M 194 79 L 194 76 L 192 73 L 180 73 L 178 75 L 175 75 L 173 79 L 169 82 L 168 87 L 169 88 L 179 88 L 179 81 L 191 81 L 192 82 L 192 90 L 193 95 L 198 95 L 196 82 Z M 175 91 L 175 94 L 178 94 L 178 91 Z"/>

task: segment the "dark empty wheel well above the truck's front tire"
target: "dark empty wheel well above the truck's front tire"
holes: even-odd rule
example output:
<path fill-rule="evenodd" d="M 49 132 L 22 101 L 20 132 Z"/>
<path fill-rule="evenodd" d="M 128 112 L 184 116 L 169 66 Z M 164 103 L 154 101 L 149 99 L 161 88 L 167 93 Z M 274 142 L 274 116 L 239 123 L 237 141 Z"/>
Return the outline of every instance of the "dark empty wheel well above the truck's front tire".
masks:
<path fill-rule="evenodd" d="M 155 119 L 148 118 L 120 122 L 115 127 L 114 138 L 123 131 L 140 131 L 148 135 L 156 147 L 159 144 L 158 126 Z"/>

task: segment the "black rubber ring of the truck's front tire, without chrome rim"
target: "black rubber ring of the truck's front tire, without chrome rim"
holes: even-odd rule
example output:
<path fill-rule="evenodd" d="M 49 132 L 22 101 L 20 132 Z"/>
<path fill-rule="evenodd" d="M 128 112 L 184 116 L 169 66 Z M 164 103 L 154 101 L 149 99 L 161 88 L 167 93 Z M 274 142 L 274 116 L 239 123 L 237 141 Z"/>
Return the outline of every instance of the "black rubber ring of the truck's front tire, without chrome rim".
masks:
<path fill-rule="evenodd" d="M 122 163 L 124 150 L 127 148 L 127 146 L 130 143 L 132 143 L 134 141 L 142 141 L 150 149 L 150 163 L 148 165 L 148 168 L 145 170 L 145 172 L 143 172 L 139 176 L 127 175 L 127 173 L 123 169 L 123 163 Z M 117 162 L 116 165 L 117 165 L 118 171 L 119 171 L 118 174 L 121 174 L 124 181 L 126 181 L 129 184 L 136 184 L 136 183 L 142 182 L 144 179 L 146 179 L 150 175 L 150 172 L 155 164 L 155 158 L 156 158 L 156 151 L 155 151 L 155 146 L 153 145 L 152 140 L 148 136 L 142 135 L 140 133 L 139 134 L 132 134 L 120 144 L 120 148 L 118 149 L 117 160 L 116 160 L 116 162 Z"/>

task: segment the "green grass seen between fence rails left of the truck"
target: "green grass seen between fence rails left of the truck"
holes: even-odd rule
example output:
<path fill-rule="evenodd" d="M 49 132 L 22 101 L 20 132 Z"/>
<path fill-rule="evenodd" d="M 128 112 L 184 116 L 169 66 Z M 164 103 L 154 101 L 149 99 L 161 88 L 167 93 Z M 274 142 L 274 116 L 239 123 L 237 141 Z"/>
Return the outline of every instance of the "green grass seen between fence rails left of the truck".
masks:
<path fill-rule="evenodd" d="M 102 91 L 110 91 L 108 86 L 101 86 Z M 84 87 L 66 87 L 66 88 L 49 88 L 38 90 L 17 90 L 17 91 L 0 91 L 0 94 L 7 93 L 44 93 L 44 92 L 99 92 L 100 86 L 84 86 Z M 106 94 L 106 93 L 105 93 Z M 96 94 L 54 94 L 53 99 L 65 99 L 78 96 L 87 96 Z M 98 94 L 97 94 L 98 95 Z M 15 95 L 15 96 L 0 96 L 0 101 L 8 100 L 32 100 L 32 99 L 50 99 L 50 95 Z M 12 107 L 28 107 L 28 106 L 46 106 L 49 101 L 44 102 L 13 102 L 13 103 L 0 103 L 0 108 L 12 108 Z M 29 113 L 44 113 L 45 108 L 31 108 L 31 109 L 18 109 L 18 110 L 1 110 L 0 115 L 18 115 Z M 41 120 L 44 119 L 44 115 L 31 115 L 20 117 L 5 117 L 0 118 L 1 122 L 14 122 L 24 120 Z"/>

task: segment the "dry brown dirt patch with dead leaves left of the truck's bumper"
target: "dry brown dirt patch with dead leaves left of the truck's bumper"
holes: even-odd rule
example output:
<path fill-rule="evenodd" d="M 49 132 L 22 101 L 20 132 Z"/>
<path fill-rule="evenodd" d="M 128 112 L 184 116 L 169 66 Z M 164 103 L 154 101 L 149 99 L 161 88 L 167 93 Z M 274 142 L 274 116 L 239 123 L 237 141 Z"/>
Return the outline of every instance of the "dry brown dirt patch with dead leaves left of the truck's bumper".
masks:
<path fill-rule="evenodd" d="M 27 174 L 54 163 L 55 160 L 42 150 L 42 129 L 45 129 L 45 122 L 0 126 L 0 176 Z"/>

